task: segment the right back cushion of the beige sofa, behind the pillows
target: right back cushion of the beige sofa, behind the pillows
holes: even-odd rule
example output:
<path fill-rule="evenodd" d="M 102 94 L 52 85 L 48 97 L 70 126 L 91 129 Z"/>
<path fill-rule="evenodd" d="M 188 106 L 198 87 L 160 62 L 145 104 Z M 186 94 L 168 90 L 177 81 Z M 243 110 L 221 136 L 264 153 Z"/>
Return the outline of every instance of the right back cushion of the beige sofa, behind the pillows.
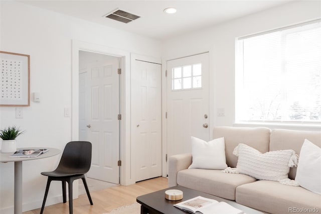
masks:
<path fill-rule="evenodd" d="M 270 151 L 293 149 L 296 154 L 300 154 L 305 139 L 321 147 L 321 132 L 274 129 L 271 131 L 270 136 Z M 289 178 L 294 180 L 295 174 L 296 167 L 290 168 Z"/>

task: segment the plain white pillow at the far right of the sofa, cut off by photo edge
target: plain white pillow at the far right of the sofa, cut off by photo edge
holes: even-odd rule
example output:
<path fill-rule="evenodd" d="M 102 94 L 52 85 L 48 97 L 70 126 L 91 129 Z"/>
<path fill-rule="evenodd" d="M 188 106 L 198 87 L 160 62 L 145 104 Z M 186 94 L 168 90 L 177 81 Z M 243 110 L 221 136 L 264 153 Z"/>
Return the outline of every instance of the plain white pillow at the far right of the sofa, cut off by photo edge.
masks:
<path fill-rule="evenodd" d="M 321 148 L 304 140 L 295 181 L 305 189 L 321 194 Z"/>

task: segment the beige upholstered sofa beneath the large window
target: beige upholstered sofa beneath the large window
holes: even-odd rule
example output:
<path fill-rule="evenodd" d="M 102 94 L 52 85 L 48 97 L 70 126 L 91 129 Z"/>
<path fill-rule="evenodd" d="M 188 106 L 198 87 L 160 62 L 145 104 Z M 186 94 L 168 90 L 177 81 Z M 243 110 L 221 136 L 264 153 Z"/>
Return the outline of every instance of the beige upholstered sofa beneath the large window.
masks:
<path fill-rule="evenodd" d="M 213 139 L 225 138 L 226 163 L 236 167 L 238 157 L 233 155 L 239 143 L 247 144 L 261 153 L 292 149 L 296 154 L 304 139 L 321 147 L 321 132 L 304 132 L 268 128 L 215 127 Z M 257 180 L 245 174 L 224 173 L 213 169 L 188 169 L 192 153 L 169 158 L 169 186 L 185 186 L 268 213 L 288 213 L 307 209 L 321 212 L 321 195 L 300 186 L 283 185 L 277 181 Z M 290 179 L 295 179 L 296 167 L 290 168 Z M 320 181 L 321 182 L 321 181 Z M 292 210 L 290 210 L 292 209 Z"/>

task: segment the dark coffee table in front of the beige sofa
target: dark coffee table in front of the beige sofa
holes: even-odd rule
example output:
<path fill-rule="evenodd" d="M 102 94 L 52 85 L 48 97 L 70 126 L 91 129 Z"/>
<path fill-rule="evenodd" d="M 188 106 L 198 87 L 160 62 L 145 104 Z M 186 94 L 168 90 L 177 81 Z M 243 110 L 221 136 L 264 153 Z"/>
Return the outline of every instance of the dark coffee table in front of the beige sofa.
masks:
<path fill-rule="evenodd" d="M 165 191 L 168 189 L 179 189 L 183 191 L 183 199 L 182 200 L 168 200 L 165 198 Z M 200 192 L 194 189 L 189 189 L 183 186 L 175 186 L 175 187 L 170 187 L 167 189 L 159 190 L 156 192 L 152 192 L 149 194 L 141 195 L 136 198 L 136 201 L 141 204 L 140 206 L 140 213 L 141 214 L 182 214 L 182 213 L 188 213 L 186 211 L 183 211 L 175 206 L 173 206 L 176 203 L 179 203 L 184 200 L 191 199 L 196 196 L 203 196 L 207 198 L 212 198 L 217 201 L 225 201 L 229 203 L 230 205 L 234 206 L 235 208 L 241 209 L 247 214 L 250 213 L 262 213 L 256 209 L 252 209 L 250 207 L 241 205 L 239 203 L 236 203 L 235 201 L 232 200 L 227 200 L 224 198 L 220 198 L 214 195 L 210 195 L 204 192 Z"/>

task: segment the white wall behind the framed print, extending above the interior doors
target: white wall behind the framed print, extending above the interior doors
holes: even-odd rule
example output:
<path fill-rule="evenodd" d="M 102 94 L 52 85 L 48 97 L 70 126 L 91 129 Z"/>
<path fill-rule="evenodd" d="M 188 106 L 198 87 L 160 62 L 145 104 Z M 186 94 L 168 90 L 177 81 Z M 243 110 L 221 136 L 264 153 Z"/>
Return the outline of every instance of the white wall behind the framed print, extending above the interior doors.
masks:
<path fill-rule="evenodd" d="M 14 107 L 0 108 L 0 128 L 16 125 L 27 132 L 18 147 L 55 147 L 63 150 L 71 140 L 72 40 L 108 46 L 128 53 L 160 57 L 161 44 L 153 39 L 107 28 L 22 3 L 1 1 L 2 51 L 29 54 L 31 92 L 41 101 L 23 108 L 23 119 L 15 118 Z M 128 54 L 129 55 L 129 54 Z M 129 60 L 129 59 L 128 59 Z M 60 156 L 23 162 L 23 210 L 41 206 L 47 177 L 42 171 L 57 166 Z M 0 212 L 13 213 L 14 164 L 0 164 Z M 53 182 L 46 205 L 62 202 L 61 184 Z"/>

